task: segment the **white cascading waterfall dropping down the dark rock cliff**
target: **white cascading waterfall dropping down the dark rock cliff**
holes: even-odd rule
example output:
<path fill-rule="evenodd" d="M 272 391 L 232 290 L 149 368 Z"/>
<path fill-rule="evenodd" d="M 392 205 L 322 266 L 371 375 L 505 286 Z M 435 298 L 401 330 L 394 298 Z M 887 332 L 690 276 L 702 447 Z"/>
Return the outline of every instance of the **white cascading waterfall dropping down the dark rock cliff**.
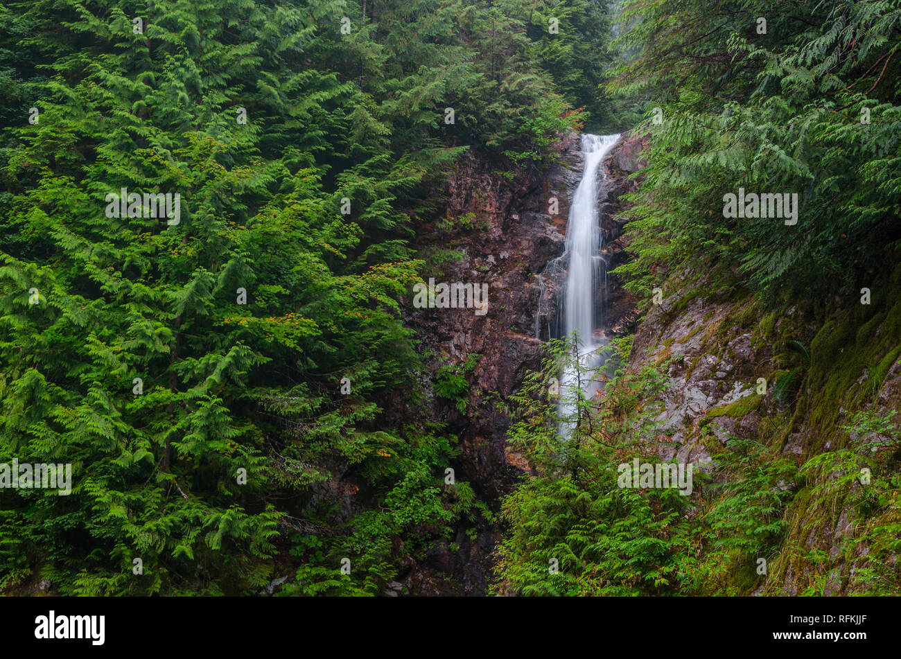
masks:
<path fill-rule="evenodd" d="M 603 320 L 596 320 L 595 293 L 598 286 L 605 285 L 606 264 L 600 255 L 602 233 L 597 212 L 597 170 L 601 169 L 602 180 L 606 172 L 601 161 L 610 152 L 619 135 L 582 135 L 582 152 L 585 169 L 578 184 L 572 204 L 569 206 L 569 221 L 566 232 L 566 252 L 569 258 L 566 284 L 563 290 L 563 335 L 572 339 L 575 335 L 582 366 L 596 369 L 602 366 L 606 339 L 596 338 L 595 330 L 603 329 Z M 600 310 L 603 311 L 603 310 Z M 584 373 L 583 373 L 584 376 Z M 575 404 L 570 392 L 581 384 L 587 395 L 595 386 L 590 379 L 578 382 L 574 367 L 567 368 L 560 379 L 560 418 L 569 419 Z M 561 434 L 569 434 L 571 424 L 564 422 Z"/>

